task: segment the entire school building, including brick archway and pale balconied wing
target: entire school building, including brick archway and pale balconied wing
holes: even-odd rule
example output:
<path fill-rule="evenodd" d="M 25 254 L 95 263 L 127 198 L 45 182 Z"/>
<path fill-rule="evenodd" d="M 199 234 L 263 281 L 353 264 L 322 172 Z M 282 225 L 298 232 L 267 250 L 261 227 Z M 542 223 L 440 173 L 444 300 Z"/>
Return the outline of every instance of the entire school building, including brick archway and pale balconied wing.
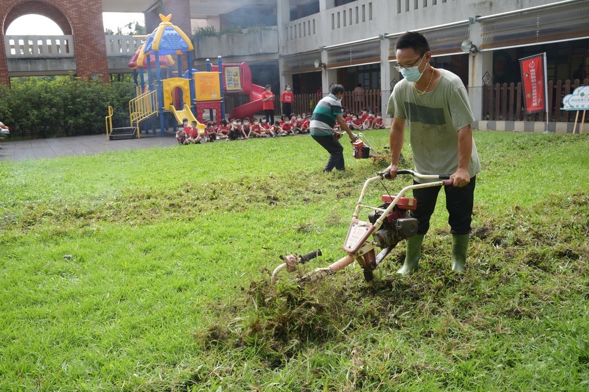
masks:
<path fill-rule="evenodd" d="M 560 110 L 562 97 L 589 85 L 589 0 L 91 0 L 82 6 L 0 0 L 0 83 L 67 73 L 107 80 L 109 73 L 130 72 L 125 59 L 139 43 L 104 36 L 101 12 L 143 12 L 148 32 L 160 22 L 158 14 L 173 14 L 175 25 L 197 33 L 194 68 L 204 69 L 207 58 L 216 63 L 219 55 L 224 62 L 247 61 L 254 83 L 270 84 L 275 93 L 291 84 L 305 109 L 340 83 L 352 97 L 349 106 L 365 105 L 386 118 L 389 95 L 402 78 L 393 68 L 394 45 L 405 31 L 422 32 L 432 65 L 462 79 L 478 129 L 544 131 L 545 113 L 522 110 L 520 58 L 547 53 L 552 131 L 572 132 L 574 112 Z M 6 36 L 25 14 L 48 16 L 64 36 Z M 208 36 L 213 26 L 223 35 Z M 37 41 L 45 43 L 16 45 Z M 351 95 L 358 83 L 360 98 Z"/>

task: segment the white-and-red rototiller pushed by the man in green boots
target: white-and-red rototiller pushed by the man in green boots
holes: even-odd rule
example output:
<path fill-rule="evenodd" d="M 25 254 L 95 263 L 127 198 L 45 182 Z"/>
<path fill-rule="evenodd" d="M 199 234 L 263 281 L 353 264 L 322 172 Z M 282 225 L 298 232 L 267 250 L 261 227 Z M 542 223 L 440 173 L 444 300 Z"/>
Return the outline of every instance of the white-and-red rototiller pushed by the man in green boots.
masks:
<path fill-rule="evenodd" d="M 354 260 L 360 264 L 364 272 L 366 282 L 374 279 L 373 271 L 378 264 L 385 259 L 386 255 L 403 239 L 414 236 L 417 233 L 417 219 L 409 217 L 409 212 L 417 207 L 417 200 L 412 197 L 405 197 L 405 193 L 412 189 L 426 188 L 432 186 L 451 185 L 452 180 L 449 175 L 421 175 L 413 170 L 398 170 L 398 175 L 413 175 L 420 179 L 436 179 L 441 181 L 409 185 L 401 189 L 399 193 L 391 195 L 382 195 L 382 205 L 370 207 L 362 204 L 366 189 L 370 183 L 389 178 L 391 173 L 377 173 L 376 177 L 369 178 L 364 183 L 362 193 L 358 199 L 358 204 L 352 215 L 352 222 L 348 229 L 348 234 L 343 242 L 343 250 L 348 253 L 342 259 L 331 264 L 328 267 L 317 268 L 310 273 L 303 275 L 300 282 L 317 282 L 329 274 L 349 266 Z M 368 220 L 358 219 L 360 209 L 372 210 L 368 214 Z M 380 248 L 376 254 L 375 249 Z M 272 273 L 272 283 L 278 281 L 278 274 L 286 268 L 288 272 L 297 270 L 297 265 L 306 263 L 315 257 L 321 256 L 321 250 L 310 252 L 304 256 L 298 257 L 296 254 L 290 254 L 283 257 L 283 262 Z"/>

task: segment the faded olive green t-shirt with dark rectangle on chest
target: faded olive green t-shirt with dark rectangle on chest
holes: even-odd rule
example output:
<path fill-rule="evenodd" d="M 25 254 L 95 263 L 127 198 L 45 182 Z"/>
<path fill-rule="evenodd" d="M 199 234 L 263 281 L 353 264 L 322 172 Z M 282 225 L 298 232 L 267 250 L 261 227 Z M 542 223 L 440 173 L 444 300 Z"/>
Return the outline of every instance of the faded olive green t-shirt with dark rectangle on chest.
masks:
<path fill-rule="evenodd" d="M 408 123 L 415 171 L 421 174 L 454 173 L 458 169 L 458 130 L 475 120 L 460 78 L 445 69 L 440 71 L 438 84 L 423 95 L 417 94 L 412 82 L 402 79 L 395 85 L 386 110 Z M 468 173 L 472 178 L 479 172 L 481 163 L 472 140 Z"/>

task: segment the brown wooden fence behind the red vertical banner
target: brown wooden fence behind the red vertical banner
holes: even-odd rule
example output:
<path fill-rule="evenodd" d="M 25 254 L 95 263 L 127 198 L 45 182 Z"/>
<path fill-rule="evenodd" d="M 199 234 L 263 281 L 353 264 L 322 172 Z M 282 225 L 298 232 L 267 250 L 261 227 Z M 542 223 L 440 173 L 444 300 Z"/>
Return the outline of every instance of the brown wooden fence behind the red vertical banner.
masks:
<path fill-rule="evenodd" d="M 589 85 L 589 79 L 583 83 L 574 81 L 548 82 L 548 122 L 574 122 L 574 111 L 561 110 L 562 98 L 573 93 L 578 86 Z M 483 88 L 482 115 L 488 120 L 504 121 L 546 121 L 546 113 L 525 113 L 522 102 L 521 82 L 495 84 Z"/>

